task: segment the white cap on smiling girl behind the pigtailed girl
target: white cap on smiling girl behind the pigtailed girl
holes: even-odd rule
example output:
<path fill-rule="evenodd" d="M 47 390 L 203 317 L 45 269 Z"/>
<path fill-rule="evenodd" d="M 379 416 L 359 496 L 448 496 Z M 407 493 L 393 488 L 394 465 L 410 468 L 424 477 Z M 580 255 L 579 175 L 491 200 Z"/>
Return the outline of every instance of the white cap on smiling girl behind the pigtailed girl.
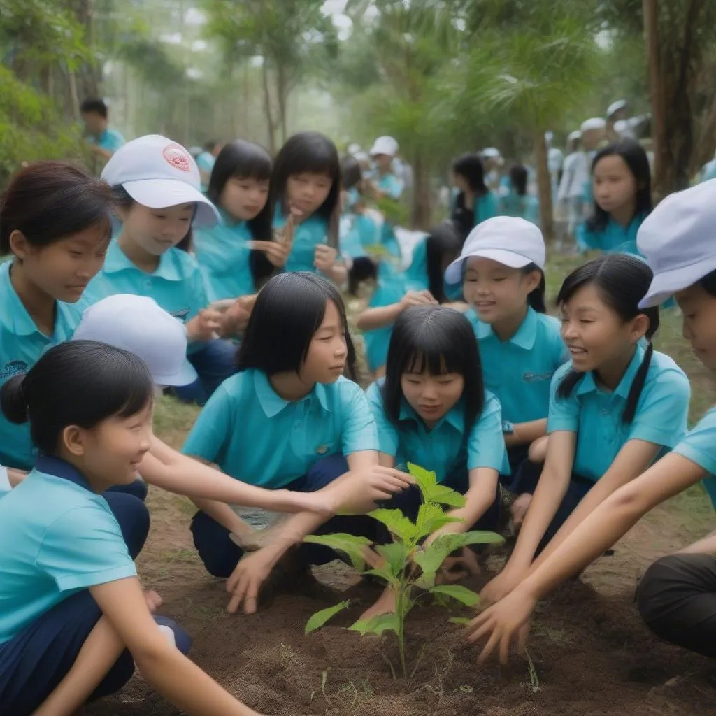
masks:
<path fill-rule="evenodd" d="M 530 221 L 511 216 L 487 219 L 470 231 L 460 258 L 450 263 L 445 271 L 445 281 L 459 284 L 463 279 L 463 262 L 473 256 L 491 258 L 511 269 L 523 269 L 530 263 L 536 263 L 544 270 L 544 238 L 539 228 Z"/>

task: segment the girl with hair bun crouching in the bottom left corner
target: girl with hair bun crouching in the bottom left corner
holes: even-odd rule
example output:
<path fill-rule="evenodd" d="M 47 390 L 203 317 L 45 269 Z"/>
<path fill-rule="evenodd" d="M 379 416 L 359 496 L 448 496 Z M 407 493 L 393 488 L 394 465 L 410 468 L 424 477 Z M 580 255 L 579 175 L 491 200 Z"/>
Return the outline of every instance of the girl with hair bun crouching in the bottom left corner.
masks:
<path fill-rule="evenodd" d="M 7 420 L 29 420 L 41 457 L 0 501 L 0 702 L 17 716 L 70 714 L 142 676 L 190 714 L 252 715 L 185 657 L 190 639 L 153 616 L 134 560 L 144 505 L 107 493 L 136 478 L 152 440 L 153 381 L 133 354 L 60 344 L 4 384 Z M 100 496 L 99 493 L 104 493 Z"/>

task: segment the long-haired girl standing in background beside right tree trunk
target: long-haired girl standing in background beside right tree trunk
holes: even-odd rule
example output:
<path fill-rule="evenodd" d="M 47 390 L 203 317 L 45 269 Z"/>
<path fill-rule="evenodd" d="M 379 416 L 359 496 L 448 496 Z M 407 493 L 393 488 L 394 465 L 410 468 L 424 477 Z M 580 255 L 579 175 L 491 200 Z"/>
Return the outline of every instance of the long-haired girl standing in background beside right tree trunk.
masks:
<path fill-rule="evenodd" d="M 591 165 L 594 215 L 577 229 L 581 251 L 639 253 L 637 230 L 652 211 L 649 159 L 636 140 L 599 150 Z"/>

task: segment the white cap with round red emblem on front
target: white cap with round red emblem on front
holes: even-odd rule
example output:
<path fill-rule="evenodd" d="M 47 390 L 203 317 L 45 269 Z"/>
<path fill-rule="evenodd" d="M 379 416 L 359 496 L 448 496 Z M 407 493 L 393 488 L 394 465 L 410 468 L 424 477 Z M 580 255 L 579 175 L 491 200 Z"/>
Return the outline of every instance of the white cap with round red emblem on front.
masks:
<path fill-rule="evenodd" d="M 102 170 L 110 186 L 122 185 L 137 203 L 151 209 L 196 204 L 194 226 L 214 226 L 219 214 L 201 193 L 201 177 L 185 148 L 160 135 L 146 135 L 122 145 Z"/>

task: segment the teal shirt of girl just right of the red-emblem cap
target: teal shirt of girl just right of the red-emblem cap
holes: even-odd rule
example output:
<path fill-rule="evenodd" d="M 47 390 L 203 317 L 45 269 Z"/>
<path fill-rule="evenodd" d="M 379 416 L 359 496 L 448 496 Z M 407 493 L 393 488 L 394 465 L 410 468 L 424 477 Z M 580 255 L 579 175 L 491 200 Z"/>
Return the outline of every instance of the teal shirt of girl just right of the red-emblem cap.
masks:
<path fill-rule="evenodd" d="M 248 242 L 253 241 L 251 229 L 246 221 L 236 223 L 226 214 L 222 216 L 223 223 L 195 229 L 193 234 L 194 254 L 210 301 L 235 299 L 256 291 L 248 261 L 251 256 Z"/>

